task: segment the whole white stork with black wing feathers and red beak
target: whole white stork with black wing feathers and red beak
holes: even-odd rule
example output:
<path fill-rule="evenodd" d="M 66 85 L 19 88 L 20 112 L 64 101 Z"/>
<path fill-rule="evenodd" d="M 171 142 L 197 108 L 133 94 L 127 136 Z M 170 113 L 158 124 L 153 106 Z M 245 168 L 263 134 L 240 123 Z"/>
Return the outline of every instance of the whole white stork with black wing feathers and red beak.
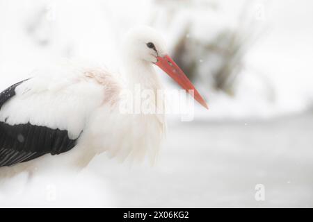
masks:
<path fill-rule="evenodd" d="M 121 160 L 152 162 L 165 126 L 164 114 L 121 114 L 122 89 L 161 89 L 159 66 L 182 88 L 200 94 L 166 53 L 160 35 L 149 27 L 133 28 L 122 44 L 121 81 L 103 69 L 41 71 L 0 94 L 0 179 L 31 171 L 39 161 L 66 156 L 79 169 L 106 151 Z M 155 106 L 159 104 L 153 100 Z"/>

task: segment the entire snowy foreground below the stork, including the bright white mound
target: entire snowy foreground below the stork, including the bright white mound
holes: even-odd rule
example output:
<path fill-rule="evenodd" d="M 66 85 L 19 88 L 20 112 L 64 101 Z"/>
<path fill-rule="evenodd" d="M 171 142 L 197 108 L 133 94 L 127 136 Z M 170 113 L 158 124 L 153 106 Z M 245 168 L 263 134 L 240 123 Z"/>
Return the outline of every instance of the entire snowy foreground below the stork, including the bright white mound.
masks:
<path fill-rule="evenodd" d="M 313 207 L 313 114 L 172 123 L 154 167 L 99 155 L 75 173 L 3 182 L 1 207 Z M 264 185 L 265 200 L 255 200 Z"/>

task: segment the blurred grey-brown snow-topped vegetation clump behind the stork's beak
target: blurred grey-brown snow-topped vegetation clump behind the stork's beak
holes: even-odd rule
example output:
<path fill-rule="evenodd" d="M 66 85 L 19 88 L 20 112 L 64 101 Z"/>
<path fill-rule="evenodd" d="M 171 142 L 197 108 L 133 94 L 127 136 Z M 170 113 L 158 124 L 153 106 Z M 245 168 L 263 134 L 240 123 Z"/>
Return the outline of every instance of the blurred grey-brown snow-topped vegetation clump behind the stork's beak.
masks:
<path fill-rule="evenodd" d="M 181 24 L 181 34 L 172 49 L 173 57 L 191 80 L 204 80 L 209 87 L 233 95 L 236 79 L 244 67 L 244 56 L 262 33 L 255 19 L 254 1 L 245 1 L 241 11 L 234 17 L 223 15 L 218 1 L 154 1 L 165 9 L 168 24 L 186 7 L 193 11 Z M 236 20 L 236 26 L 223 26 L 217 31 L 211 30 L 210 26 L 203 26 L 203 33 L 211 32 L 213 37 L 198 39 L 193 36 L 193 26 L 197 22 L 199 8 L 220 17 L 230 17 L 230 22 Z M 216 24 L 219 24 L 218 21 Z"/>

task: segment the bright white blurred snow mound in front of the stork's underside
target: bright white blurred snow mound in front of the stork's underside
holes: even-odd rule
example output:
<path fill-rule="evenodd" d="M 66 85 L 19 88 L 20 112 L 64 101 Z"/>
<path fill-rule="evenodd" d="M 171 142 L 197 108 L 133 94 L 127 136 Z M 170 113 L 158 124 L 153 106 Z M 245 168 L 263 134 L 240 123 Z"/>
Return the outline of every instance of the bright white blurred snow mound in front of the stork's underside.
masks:
<path fill-rule="evenodd" d="M 28 176 L 21 173 L 0 183 L 0 207 L 114 207 L 110 185 L 93 173 L 47 171 Z"/>

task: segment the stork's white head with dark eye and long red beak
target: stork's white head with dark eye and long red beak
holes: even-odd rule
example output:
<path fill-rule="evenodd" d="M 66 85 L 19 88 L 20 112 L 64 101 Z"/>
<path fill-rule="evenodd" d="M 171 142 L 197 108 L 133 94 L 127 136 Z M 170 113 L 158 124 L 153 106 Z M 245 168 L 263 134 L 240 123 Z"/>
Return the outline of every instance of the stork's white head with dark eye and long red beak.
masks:
<path fill-rule="evenodd" d="M 132 28 L 125 37 L 123 51 L 125 56 L 131 58 L 131 60 L 143 61 L 160 67 L 183 89 L 191 93 L 204 108 L 208 108 L 207 103 L 202 99 L 202 96 L 200 96 L 182 69 L 168 56 L 165 41 L 153 28 L 147 26 Z"/>

